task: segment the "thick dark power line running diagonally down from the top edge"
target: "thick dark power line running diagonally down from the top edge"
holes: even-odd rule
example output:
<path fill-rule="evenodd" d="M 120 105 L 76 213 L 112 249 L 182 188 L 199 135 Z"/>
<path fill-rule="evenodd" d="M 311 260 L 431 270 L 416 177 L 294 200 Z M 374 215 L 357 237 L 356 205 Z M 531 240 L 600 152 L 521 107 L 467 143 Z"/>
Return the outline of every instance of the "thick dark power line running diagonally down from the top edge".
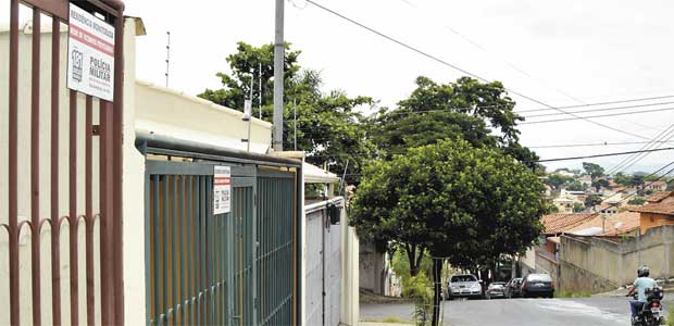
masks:
<path fill-rule="evenodd" d="M 354 24 L 354 25 L 357 25 L 357 26 L 359 26 L 359 27 L 363 28 L 363 29 L 366 29 L 366 30 L 369 30 L 369 32 L 371 32 L 371 33 L 373 33 L 373 34 L 375 34 L 375 35 L 377 35 L 377 36 L 379 36 L 379 37 L 382 37 L 382 38 L 385 38 L 385 39 L 387 39 L 387 40 L 389 40 L 389 41 L 391 41 L 391 42 L 395 42 L 395 43 L 397 43 L 397 45 L 399 45 L 399 46 L 401 46 L 401 47 L 403 47 L 403 48 L 405 48 L 405 49 L 408 49 L 408 50 L 411 50 L 411 51 L 413 51 L 413 52 L 416 52 L 416 53 L 419 53 L 419 54 L 421 54 L 421 55 L 423 55 L 423 57 L 426 57 L 426 58 L 428 58 L 428 59 L 430 59 L 430 60 L 433 60 L 433 61 L 436 61 L 436 62 L 438 62 L 438 63 L 440 63 L 440 64 L 444 64 L 444 65 L 446 65 L 446 66 L 448 66 L 448 67 L 451 67 L 451 68 L 453 68 L 453 70 L 455 70 L 455 71 L 458 71 L 458 72 L 461 72 L 461 73 L 463 73 L 463 74 L 465 74 L 465 75 L 467 75 L 467 76 L 471 76 L 471 77 L 473 77 L 473 78 L 479 79 L 479 80 L 482 80 L 482 82 L 484 82 L 484 83 L 490 83 L 490 80 L 488 80 L 488 79 L 486 79 L 486 78 L 483 78 L 483 77 L 480 77 L 480 76 L 478 76 L 478 75 L 476 75 L 476 74 L 474 74 L 474 73 L 471 73 L 471 72 L 469 72 L 469 71 L 466 71 L 466 70 L 463 70 L 463 68 L 461 68 L 461 67 L 459 67 L 459 66 L 457 66 L 457 65 L 454 65 L 454 64 L 451 64 L 451 63 L 449 63 L 449 62 L 447 62 L 447 61 L 445 61 L 445 60 L 442 60 L 442 59 L 440 59 L 440 58 L 438 58 L 438 57 L 435 57 L 435 55 L 433 55 L 433 54 L 430 54 L 430 53 L 428 53 L 428 52 L 425 52 L 425 51 L 420 50 L 420 49 L 417 49 L 417 48 L 415 48 L 415 47 L 413 47 L 413 46 L 410 46 L 410 45 L 408 45 L 407 42 L 403 42 L 403 41 L 401 41 L 401 40 L 398 40 L 398 39 L 396 39 L 396 38 L 394 38 L 394 37 L 390 37 L 390 36 L 386 35 L 386 34 L 384 34 L 384 33 L 382 33 L 382 32 L 378 32 L 378 30 L 376 30 L 376 29 L 374 29 L 374 28 L 372 28 L 372 27 L 369 27 L 369 26 L 366 26 L 366 25 L 364 25 L 364 24 L 362 24 L 362 23 L 360 23 L 360 22 L 358 22 L 358 21 L 354 21 L 354 20 L 352 20 L 352 18 L 350 18 L 350 17 L 348 17 L 348 16 L 345 16 L 345 15 L 342 15 L 342 14 L 340 14 L 340 13 L 338 13 L 338 12 L 336 12 L 336 11 L 334 11 L 334 10 L 329 9 L 329 8 L 326 8 L 326 7 L 322 5 L 322 4 L 319 4 L 319 3 L 316 3 L 316 2 L 315 2 L 315 1 L 313 1 L 313 0 L 307 0 L 307 2 L 308 2 L 308 3 L 313 4 L 314 7 L 316 7 L 316 8 L 321 9 L 321 10 L 323 10 L 323 11 L 325 11 L 325 12 L 328 12 L 328 13 L 330 13 L 330 14 L 335 15 L 335 16 L 338 16 L 338 17 L 340 17 L 341 20 L 345 20 L 345 21 L 347 21 L 347 22 L 349 22 L 349 23 L 351 23 L 351 24 Z M 574 113 L 569 113 L 569 112 L 565 112 L 565 111 L 563 111 L 563 110 L 561 110 L 561 109 L 554 108 L 554 106 L 552 106 L 552 105 L 550 105 L 550 104 L 548 104 L 548 103 L 545 103 L 545 102 L 542 102 L 542 101 L 540 101 L 540 100 L 537 100 L 537 99 L 532 98 L 532 97 L 529 97 L 529 96 L 526 96 L 526 95 L 524 95 L 524 93 L 522 93 L 522 92 L 519 92 L 519 91 L 516 91 L 516 90 L 514 90 L 514 89 L 510 89 L 510 88 L 503 88 L 503 89 L 504 89 L 504 90 L 507 90 L 507 91 L 509 91 L 509 92 L 511 92 L 511 93 L 513 93 L 513 95 L 516 95 L 516 96 L 519 96 L 519 97 L 521 97 L 521 98 L 524 98 L 524 99 L 526 99 L 526 100 L 529 100 L 529 101 L 532 101 L 532 102 L 534 102 L 534 103 L 538 103 L 538 104 L 544 105 L 544 106 L 546 106 L 546 108 L 550 108 L 550 109 L 552 109 L 552 110 L 560 111 L 560 112 L 562 112 L 562 113 L 564 113 L 564 114 L 567 114 L 567 115 L 570 115 L 570 116 L 576 117 L 576 118 L 578 118 L 578 120 L 585 120 L 585 121 L 587 121 L 587 122 L 589 122 L 589 123 L 591 123 L 591 124 L 595 124 L 595 125 L 597 125 L 597 126 L 600 126 L 600 127 L 603 127 L 603 128 L 607 128 L 607 129 L 611 129 L 611 130 L 614 130 L 614 131 L 616 131 L 616 133 L 621 133 L 621 134 L 628 135 L 628 136 L 632 136 L 632 137 L 636 137 L 636 138 L 640 138 L 640 139 L 646 139 L 646 140 L 651 140 L 650 138 L 648 138 L 648 137 L 644 137 L 644 136 L 641 136 L 641 135 L 637 135 L 637 134 L 633 134 L 633 133 L 629 133 L 629 131 L 626 131 L 626 130 L 623 130 L 623 129 L 614 128 L 614 127 L 611 127 L 611 126 L 609 126 L 609 125 L 606 125 L 606 124 L 602 124 L 602 123 L 599 123 L 599 122 L 591 121 L 591 120 L 589 120 L 588 117 L 583 117 L 583 116 L 578 116 L 578 115 L 576 115 L 576 114 L 574 114 Z"/>

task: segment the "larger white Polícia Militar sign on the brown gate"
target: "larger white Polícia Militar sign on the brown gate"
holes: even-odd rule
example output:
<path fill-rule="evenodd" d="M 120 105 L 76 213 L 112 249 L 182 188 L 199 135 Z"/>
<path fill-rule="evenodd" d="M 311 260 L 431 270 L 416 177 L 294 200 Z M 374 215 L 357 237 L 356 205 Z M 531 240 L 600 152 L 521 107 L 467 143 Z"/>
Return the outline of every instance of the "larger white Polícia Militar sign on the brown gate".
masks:
<path fill-rule="evenodd" d="M 113 99 L 114 27 L 70 4 L 67 88 Z"/>

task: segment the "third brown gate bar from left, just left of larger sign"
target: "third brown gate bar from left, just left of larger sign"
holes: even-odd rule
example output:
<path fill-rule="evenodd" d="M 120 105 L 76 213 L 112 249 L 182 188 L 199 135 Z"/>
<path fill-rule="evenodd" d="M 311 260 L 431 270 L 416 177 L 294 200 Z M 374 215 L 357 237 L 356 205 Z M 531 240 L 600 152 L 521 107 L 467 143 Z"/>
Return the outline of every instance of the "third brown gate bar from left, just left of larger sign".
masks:
<path fill-rule="evenodd" d="M 51 311 L 52 323 L 61 325 L 61 246 L 59 224 L 59 90 L 61 57 L 61 22 L 51 26 Z M 11 71 L 11 70 L 10 70 Z M 11 88 L 11 87 L 10 87 Z"/>

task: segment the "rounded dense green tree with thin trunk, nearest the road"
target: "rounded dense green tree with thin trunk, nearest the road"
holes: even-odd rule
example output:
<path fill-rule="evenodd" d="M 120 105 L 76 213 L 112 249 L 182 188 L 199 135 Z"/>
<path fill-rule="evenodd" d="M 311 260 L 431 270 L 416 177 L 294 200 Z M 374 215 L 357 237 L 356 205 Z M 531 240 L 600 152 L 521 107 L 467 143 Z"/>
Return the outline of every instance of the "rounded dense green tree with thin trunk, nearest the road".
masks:
<path fill-rule="evenodd" d="M 409 258 L 415 246 L 473 268 L 531 247 L 547 211 L 542 190 L 534 173 L 498 149 L 439 140 L 367 166 L 350 224 L 362 238 L 404 243 Z M 441 266 L 434 260 L 436 303 Z"/>

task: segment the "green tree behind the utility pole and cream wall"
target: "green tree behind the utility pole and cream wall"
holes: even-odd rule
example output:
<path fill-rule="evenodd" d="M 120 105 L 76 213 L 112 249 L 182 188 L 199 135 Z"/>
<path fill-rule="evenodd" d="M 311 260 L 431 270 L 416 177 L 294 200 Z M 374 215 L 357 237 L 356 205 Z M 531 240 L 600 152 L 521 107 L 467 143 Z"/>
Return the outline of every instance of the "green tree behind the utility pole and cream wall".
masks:
<path fill-rule="evenodd" d="M 294 149 L 294 110 L 297 111 L 297 149 L 308 153 L 307 161 L 322 165 L 341 175 L 348 165 L 347 181 L 358 184 L 363 162 L 373 158 L 374 145 L 367 139 L 365 117 L 361 105 L 371 105 L 367 97 L 349 97 L 344 91 L 324 92 L 321 74 L 303 70 L 298 64 L 300 51 L 291 51 L 286 43 L 284 76 L 284 148 Z M 199 97 L 232 109 L 242 110 L 250 97 L 253 103 L 262 101 L 263 120 L 272 122 L 274 89 L 274 46 L 253 47 L 239 42 L 237 52 L 226 59 L 232 73 L 217 73 L 222 89 L 207 89 Z M 260 68 L 261 67 L 261 68 Z M 262 91 L 259 91 L 259 76 Z M 258 116 L 258 105 L 253 105 Z M 347 163 L 348 162 L 348 163 Z"/>

